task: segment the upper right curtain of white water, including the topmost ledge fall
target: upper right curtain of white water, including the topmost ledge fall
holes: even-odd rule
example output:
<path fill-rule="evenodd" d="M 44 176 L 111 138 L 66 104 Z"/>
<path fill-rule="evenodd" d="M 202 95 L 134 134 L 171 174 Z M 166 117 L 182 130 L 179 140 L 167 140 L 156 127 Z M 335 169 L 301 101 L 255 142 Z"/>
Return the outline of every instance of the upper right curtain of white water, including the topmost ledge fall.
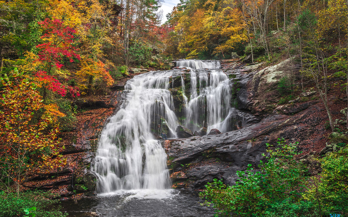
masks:
<path fill-rule="evenodd" d="M 203 126 L 207 127 L 207 132 L 213 128 L 221 132 L 229 130 L 228 122 L 224 119 L 228 117 L 231 108 L 231 82 L 219 69 L 220 61 L 180 60 L 176 65 L 192 69 L 190 70 L 191 96 L 185 105 L 184 125 L 192 132 L 199 131 Z"/>

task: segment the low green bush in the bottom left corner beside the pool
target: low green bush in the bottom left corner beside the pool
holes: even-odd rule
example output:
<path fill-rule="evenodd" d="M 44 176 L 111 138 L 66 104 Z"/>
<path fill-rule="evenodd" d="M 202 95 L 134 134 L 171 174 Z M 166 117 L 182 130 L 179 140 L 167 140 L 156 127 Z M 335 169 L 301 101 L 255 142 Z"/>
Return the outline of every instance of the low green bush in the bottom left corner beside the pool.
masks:
<path fill-rule="evenodd" d="M 48 193 L 41 191 L 14 193 L 0 191 L 0 217 L 64 217 L 68 214 L 59 211 L 54 201 L 47 199 Z"/>

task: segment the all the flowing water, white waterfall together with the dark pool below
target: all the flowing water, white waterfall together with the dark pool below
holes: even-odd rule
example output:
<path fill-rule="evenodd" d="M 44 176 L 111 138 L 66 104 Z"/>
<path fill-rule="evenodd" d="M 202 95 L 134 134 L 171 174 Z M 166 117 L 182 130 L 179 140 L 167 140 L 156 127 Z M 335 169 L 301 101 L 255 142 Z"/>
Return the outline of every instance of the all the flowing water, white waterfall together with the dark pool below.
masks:
<path fill-rule="evenodd" d="M 178 125 L 192 132 L 202 127 L 228 131 L 231 83 L 219 61 L 180 60 L 176 66 L 190 70 L 149 72 L 127 82 L 124 100 L 102 131 L 91 165 L 98 196 L 64 202 L 65 210 L 74 210 L 71 216 L 91 211 L 103 217 L 213 216 L 195 192 L 171 189 L 167 155 L 154 134 L 160 134 L 158 125 L 173 138 Z M 171 86 L 178 76 L 181 87 Z M 182 120 L 174 112 L 172 88 L 182 92 Z"/>

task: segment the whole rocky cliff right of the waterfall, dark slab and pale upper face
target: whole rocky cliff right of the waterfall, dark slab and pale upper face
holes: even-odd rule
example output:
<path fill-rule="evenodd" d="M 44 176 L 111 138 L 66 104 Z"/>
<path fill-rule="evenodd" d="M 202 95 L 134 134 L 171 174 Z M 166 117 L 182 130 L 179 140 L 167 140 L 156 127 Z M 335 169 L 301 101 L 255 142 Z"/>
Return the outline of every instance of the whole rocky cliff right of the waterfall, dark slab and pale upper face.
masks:
<path fill-rule="evenodd" d="M 279 101 L 284 101 L 277 91 L 280 78 L 296 79 L 298 75 L 298 68 L 290 59 L 269 67 L 223 60 L 222 69 L 233 84 L 233 118 L 238 129 L 163 141 L 173 187 L 202 189 L 214 178 L 234 184 L 236 171 L 246 169 L 248 164 L 257 165 L 264 158 L 261 154 L 267 154 L 266 143 L 276 144 L 280 137 L 299 142 L 303 156 L 298 159 L 330 149 L 325 149 L 330 135 L 325 129 L 328 117 L 312 87 L 298 90 L 295 100 L 279 105 Z M 331 101 L 335 118 L 343 119 L 339 112 L 344 108 L 343 101 L 334 95 L 331 98 L 336 100 Z"/>

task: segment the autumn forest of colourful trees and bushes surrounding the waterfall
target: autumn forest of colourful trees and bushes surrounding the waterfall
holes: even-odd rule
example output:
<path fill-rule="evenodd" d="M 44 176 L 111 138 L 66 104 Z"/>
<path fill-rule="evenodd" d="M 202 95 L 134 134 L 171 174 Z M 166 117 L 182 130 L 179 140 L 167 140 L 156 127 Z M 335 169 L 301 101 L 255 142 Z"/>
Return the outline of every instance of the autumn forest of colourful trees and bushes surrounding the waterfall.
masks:
<path fill-rule="evenodd" d="M 262 160 L 235 172 L 234 185 L 221 177 L 204 183 L 198 189 L 202 206 L 212 207 L 215 216 L 348 216 L 348 0 L 180 0 L 166 15 L 164 2 L 0 1 L 0 217 L 70 216 L 59 205 L 61 195 L 26 183 L 69 167 L 62 135 L 83 125 L 79 117 L 90 105 L 141 73 L 175 67 L 189 72 L 174 63 L 181 59 L 263 69 L 289 61 L 293 69 L 271 88 L 276 101 L 258 98 L 243 111 L 269 117 L 276 107 L 314 100 L 324 111 L 313 134 L 325 138 L 303 149 L 302 137 L 277 135 L 265 144 Z M 177 83 L 190 80 L 183 77 Z M 175 89 L 170 82 L 173 98 L 176 91 L 181 103 L 192 99 L 192 87 L 180 83 Z M 199 84 L 194 89 L 201 91 Z M 240 89 L 232 87 L 231 94 Z M 263 95 L 274 97 L 267 91 Z M 312 149 L 320 150 L 300 158 Z M 180 165 L 189 168 L 188 162 Z"/>

